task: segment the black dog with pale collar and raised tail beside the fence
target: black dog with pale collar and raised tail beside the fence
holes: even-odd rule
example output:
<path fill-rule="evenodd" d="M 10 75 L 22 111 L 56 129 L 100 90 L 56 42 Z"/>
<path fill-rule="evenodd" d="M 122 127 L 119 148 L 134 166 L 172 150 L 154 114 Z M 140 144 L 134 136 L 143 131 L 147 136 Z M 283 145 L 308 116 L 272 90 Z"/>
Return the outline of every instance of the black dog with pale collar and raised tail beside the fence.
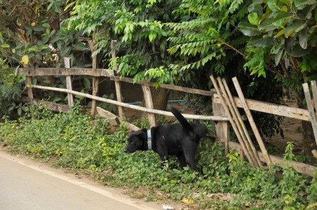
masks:
<path fill-rule="evenodd" d="M 133 153 L 136 150 L 153 150 L 158 153 L 161 162 L 168 160 L 168 155 L 176 155 L 180 166 L 189 165 L 198 172 L 195 155 L 199 140 L 211 137 L 204 124 L 189 124 L 185 117 L 173 106 L 168 110 L 174 114 L 180 124 L 154 126 L 150 130 L 132 131 L 128 137 L 128 145 L 124 152 Z M 163 166 L 161 164 L 161 166 Z"/>

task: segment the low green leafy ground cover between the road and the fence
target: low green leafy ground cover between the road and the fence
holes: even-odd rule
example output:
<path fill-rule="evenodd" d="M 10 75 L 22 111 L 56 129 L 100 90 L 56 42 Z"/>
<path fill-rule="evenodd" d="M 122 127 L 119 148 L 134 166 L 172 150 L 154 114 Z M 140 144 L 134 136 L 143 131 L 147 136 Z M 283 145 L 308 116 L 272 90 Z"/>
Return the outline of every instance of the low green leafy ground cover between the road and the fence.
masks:
<path fill-rule="evenodd" d="M 154 152 L 125 154 L 127 135 L 124 126 L 110 133 L 107 122 L 92 122 L 77 106 L 67 114 L 31 106 L 18 121 L 4 118 L 0 123 L 0 143 L 12 152 L 85 171 L 105 185 L 144 192 L 137 193 L 142 199 L 185 200 L 191 209 L 316 209 L 316 178 L 290 167 L 296 158 L 292 143 L 285 150 L 285 166 L 273 167 L 280 174 L 275 176 L 241 162 L 235 150 L 226 163 L 219 143 L 202 140 L 197 178 L 190 169 L 180 169 L 176 158 L 161 169 Z M 220 194 L 227 196 L 218 199 Z"/>

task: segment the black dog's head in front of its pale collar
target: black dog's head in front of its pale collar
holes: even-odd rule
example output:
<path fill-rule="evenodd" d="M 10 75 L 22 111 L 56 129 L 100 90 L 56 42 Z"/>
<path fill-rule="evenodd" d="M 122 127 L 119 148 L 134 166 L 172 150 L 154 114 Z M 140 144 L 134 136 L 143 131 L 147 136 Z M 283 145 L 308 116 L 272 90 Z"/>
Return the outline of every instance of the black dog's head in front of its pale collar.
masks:
<path fill-rule="evenodd" d="M 132 131 L 128 137 L 124 152 L 130 154 L 137 150 L 146 150 L 144 143 L 147 143 L 147 129 Z"/>

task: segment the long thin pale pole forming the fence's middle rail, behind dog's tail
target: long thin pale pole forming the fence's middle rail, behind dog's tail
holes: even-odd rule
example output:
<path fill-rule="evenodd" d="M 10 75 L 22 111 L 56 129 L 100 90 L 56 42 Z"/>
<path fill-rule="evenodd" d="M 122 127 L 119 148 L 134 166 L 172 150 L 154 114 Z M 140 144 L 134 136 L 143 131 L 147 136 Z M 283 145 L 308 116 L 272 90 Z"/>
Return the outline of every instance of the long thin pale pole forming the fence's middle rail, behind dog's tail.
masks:
<path fill-rule="evenodd" d="M 92 96 L 92 95 L 89 95 L 87 93 L 81 93 L 81 92 L 78 92 L 78 91 L 70 91 L 70 90 L 65 89 L 65 88 L 54 88 L 54 87 L 39 86 L 39 85 L 34 85 L 34 86 L 32 86 L 32 88 L 39 88 L 39 89 L 50 90 L 50 91 L 59 91 L 59 92 L 62 92 L 62 93 L 72 93 L 73 95 L 83 96 L 83 97 L 86 97 L 86 98 L 99 100 L 99 101 L 104 102 L 104 103 L 111 103 L 113 105 L 127 107 L 127 108 L 130 108 L 132 110 L 139 110 L 139 111 L 142 111 L 142 112 L 149 112 L 149 113 L 153 113 L 153 114 L 162 114 L 162 115 L 170 116 L 170 117 L 174 116 L 172 114 L 172 112 L 166 112 L 166 111 L 162 111 L 162 110 L 152 110 L 152 109 L 149 109 L 147 107 L 139 107 L 137 105 L 132 105 L 132 104 L 128 104 L 128 103 L 122 103 L 122 102 L 118 102 L 116 100 L 111 100 L 111 99 L 108 99 L 108 98 L 101 98 L 101 97 L 98 97 L 98 96 Z M 223 117 L 223 116 L 206 116 L 206 115 L 195 115 L 195 114 L 182 114 L 182 115 L 185 118 L 187 118 L 187 119 L 201 119 L 201 120 L 212 120 L 212 121 L 228 121 L 228 117 Z"/>

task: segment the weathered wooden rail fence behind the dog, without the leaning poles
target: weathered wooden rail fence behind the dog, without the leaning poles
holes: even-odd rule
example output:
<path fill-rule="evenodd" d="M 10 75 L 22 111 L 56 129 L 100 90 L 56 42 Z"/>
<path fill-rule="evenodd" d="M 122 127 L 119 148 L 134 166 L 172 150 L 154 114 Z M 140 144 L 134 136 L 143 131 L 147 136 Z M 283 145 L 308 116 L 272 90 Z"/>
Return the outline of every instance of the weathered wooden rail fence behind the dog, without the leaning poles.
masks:
<path fill-rule="evenodd" d="M 166 112 L 162 110 L 154 110 L 153 109 L 153 101 L 151 98 L 151 86 L 154 86 L 154 83 L 148 82 L 148 81 L 139 81 L 134 82 L 133 79 L 125 78 L 125 77 L 116 77 L 108 70 L 104 69 L 86 69 L 86 68 L 20 68 L 19 74 L 25 74 L 26 75 L 26 88 L 27 88 L 27 95 L 28 97 L 23 97 L 21 100 L 23 100 L 25 103 L 40 103 L 42 100 L 33 98 L 32 94 L 32 88 L 39 88 L 39 89 L 46 89 L 51 91 L 59 91 L 63 93 L 68 93 L 68 105 L 58 105 L 56 103 L 51 103 L 48 101 L 42 102 L 44 105 L 46 105 L 49 109 L 59 112 L 67 112 L 69 110 L 69 107 L 72 105 L 73 100 L 70 98 L 73 98 L 73 95 L 77 96 L 83 96 L 86 98 L 90 98 L 92 100 L 101 101 L 104 103 L 110 103 L 113 105 L 118 106 L 119 117 L 123 117 L 124 112 L 122 107 L 130 108 L 133 110 L 139 110 L 142 112 L 146 112 L 147 116 L 149 118 L 150 126 L 155 126 L 155 118 L 154 114 L 163 114 L 166 116 L 173 116 L 171 112 Z M 32 77 L 36 76 L 66 76 L 67 82 L 67 88 L 54 88 L 49 86 L 38 86 L 31 84 Z M 81 93 L 78 91 L 73 91 L 72 84 L 71 84 L 71 76 L 75 75 L 89 75 L 92 77 L 108 77 L 112 81 L 116 82 L 116 95 L 118 100 L 110 100 L 106 98 L 101 98 L 98 96 L 92 96 L 87 93 Z M 67 79 L 68 78 L 68 79 Z M 122 90 L 120 89 L 120 84 L 122 82 L 128 82 L 132 84 L 140 84 L 142 86 L 142 90 L 144 93 L 144 101 L 146 103 L 146 107 L 140 107 L 137 105 L 131 105 L 128 103 L 123 102 L 123 96 L 122 96 Z M 193 89 L 193 88 L 185 88 L 181 86 L 173 86 L 168 84 L 161 84 L 161 88 L 168 88 L 170 90 L 174 91 L 182 91 L 185 93 L 194 93 L 199 94 L 203 96 L 208 96 L 212 98 L 213 101 L 213 116 L 204 116 L 204 115 L 194 115 L 194 114 L 184 114 L 186 118 L 189 119 L 201 119 L 201 120 L 211 120 L 218 122 L 215 124 L 216 127 L 216 135 L 219 138 L 219 140 L 223 143 L 225 143 L 225 147 L 228 148 L 235 148 L 237 149 L 240 154 L 244 155 L 244 152 L 242 150 L 242 146 L 239 143 L 235 143 L 230 141 L 230 133 L 229 133 L 229 119 L 225 112 L 225 109 L 223 105 L 221 105 L 220 97 L 216 93 L 216 90 L 211 91 L 203 91 L 199 89 Z M 93 93 L 98 93 L 98 90 L 94 88 L 98 88 L 98 86 L 93 85 L 92 86 Z M 310 114 L 308 110 L 299 109 L 297 107 L 288 107 L 284 105 L 275 105 L 273 103 L 265 103 L 261 101 L 256 100 L 250 100 L 245 99 L 244 101 L 240 100 L 238 97 L 233 97 L 235 101 L 235 105 L 237 107 L 244 107 L 244 101 L 249 107 L 249 110 L 255 110 L 259 112 L 266 112 L 270 114 L 276 114 L 283 117 L 290 117 L 294 119 L 301 119 L 306 121 L 311 121 Z M 96 110 L 94 110 L 94 107 L 92 107 L 92 113 L 96 113 Z M 228 151 L 226 151 L 228 152 Z M 273 155 L 263 155 L 262 152 L 256 151 L 257 155 L 259 156 L 259 159 L 261 162 L 267 162 L 266 159 L 269 158 L 271 160 L 272 164 L 275 164 L 277 166 L 283 166 L 283 159 L 281 157 L 276 157 Z M 311 166 L 309 164 L 303 164 L 300 162 L 292 162 L 291 165 L 296 169 L 299 173 L 304 173 L 309 176 L 314 176 L 314 171 L 317 170 L 317 167 Z"/>

